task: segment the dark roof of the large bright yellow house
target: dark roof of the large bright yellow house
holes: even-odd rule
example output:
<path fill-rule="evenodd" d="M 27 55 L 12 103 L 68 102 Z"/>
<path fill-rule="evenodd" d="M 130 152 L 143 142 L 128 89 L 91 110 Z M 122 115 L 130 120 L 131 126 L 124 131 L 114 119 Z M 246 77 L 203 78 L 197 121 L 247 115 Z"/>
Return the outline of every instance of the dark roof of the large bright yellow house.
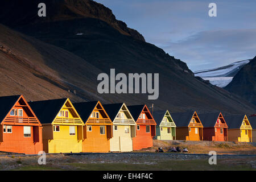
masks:
<path fill-rule="evenodd" d="M 36 117 L 42 124 L 52 123 L 59 113 L 61 107 L 65 104 L 67 98 L 60 98 L 46 101 L 28 102 Z"/>

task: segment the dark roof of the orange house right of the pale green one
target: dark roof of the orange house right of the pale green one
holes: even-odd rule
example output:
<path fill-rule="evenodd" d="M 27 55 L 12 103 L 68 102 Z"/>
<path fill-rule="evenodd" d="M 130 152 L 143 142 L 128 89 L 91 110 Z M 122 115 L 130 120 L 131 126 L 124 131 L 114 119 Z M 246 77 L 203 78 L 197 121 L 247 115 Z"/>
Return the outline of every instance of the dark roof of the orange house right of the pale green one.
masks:
<path fill-rule="evenodd" d="M 186 113 L 172 113 L 172 119 L 174 119 L 177 127 L 188 127 L 194 113 L 195 111 L 189 111 Z"/>

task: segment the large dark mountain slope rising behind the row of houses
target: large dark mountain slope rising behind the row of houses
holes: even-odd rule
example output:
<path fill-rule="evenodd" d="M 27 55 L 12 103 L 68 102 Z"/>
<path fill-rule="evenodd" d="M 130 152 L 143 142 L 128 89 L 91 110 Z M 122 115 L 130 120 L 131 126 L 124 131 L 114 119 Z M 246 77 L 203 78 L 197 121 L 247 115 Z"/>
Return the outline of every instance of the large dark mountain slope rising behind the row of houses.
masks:
<path fill-rule="evenodd" d="M 153 103 L 155 104 L 154 109 L 170 109 L 175 112 L 196 109 L 198 111 L 221 110 L 229 113 L 255 113 L 255 106 L 240 97 L 233 96 L 224 89 L 196 79 L 185 63 L 169 56 L 162 49 L 134 36 L 122 34 L 112 23 L 108 23 L 110 20 L 92 18 L 94 14 L 92 12 L 96 9 L 94 4 L 98 6 L 95 2 L 87 6 L 86 2 L 89 1 L 82 0 L 42 1 L 47 6 L 55 7 L 56 10 L 53 16 L 48 16 L 43 20 L 35 18 L 36 15 L 32 16 L 27 6 L 23 7 L 22 12 L 18 11 L 21 5 L 15 2 L 14 0 L 6 1 L 5 6 L 0 7 L 2 12 L 0 22 L 26 35 L 21 35 L 23 40 L 9 44 L 8 39 L 13 39 L 13 36 L 1 36 L 0 34 L 0 44 L 9 48 L 11 52 L 14 52 L 15 49 L 24 52 L 20 55 L 24 60 L 27 60 L 30 54 L 36 53 L 37 56 L 30 57 L 29 63 L 26 62 L 28 66 L 40 65 L 42 68 L 40 73 L 43 72 L 43 77 L 40 76 L 40 78 L 47 77 L 44 81 L 52 82 L 57 77 L 58 84 L 65 86 L 62 88 L 65 92 L 61 92 L 67 93 L 68 89 L 76 90 L 76 96 L 69 93 L 72 100 L 101 100 L 105 104 L 125 101 L 127 105 L 150 105 Z M 26 5 L 31 1 L 22 2 Z M 75 10 L 72 10 L 72 13 L 68 11 L 68 14 L 72 14 L 72 18 L 67 18 L 67 11 L 62 11 L 63 6 L 66 7 L 67 3 L 75 5 L 77 2 L 81 3 L 79 12 L 89 15 L 81 17 L 80 13 L 77 13 L 76 7 L 73 6 Z M 9 7 L 7 5 L 10 5 L 12 12 L 7 9 Z M 15 11 L 16 9 L 17 11 Z M 102 9 L 104 8 L 102 7 Z M 102 10 L 101 12 L 109 11 Z M 14 15 L 18 19 L 15 20 Z M 104 17 L 108 19 L 112 15 L 107 14 Z M 11 32 L 11 34 L 17 33 Z M 19 46 L 15 47 L 16 44 Z M 31 48 L 26 44 L 30 44 Z M 109 73 L 110 68 L 115 68 L 116 74 L 119 72 L 159 73 L 158 100 L 147 100 L 147 94 L 97 93 L 98 73 Z M 28 77 L 31 72 L 33 70 L 30 69 L 24 72 L 24 75 Z M 8 72 L 5 75 L 13 76 Z M 39 82 L 40 84 L 40 80 L 29 80 L 28 84 L 30 82 Z M 5 86 L 3 87 L 4 93 L 17 93 L 18 91 L 20 93 L 26 87 L 23 84 L 24 82 L 20 83 L 19 89 L 15 91 L 10 91 L 11 85 Z M 47 88 L 47 86 L 45 87 Z M 60 86 L 58 87 L 60 88 Z M 59 94 L 61 93 L 60 89 L 52 88 L 51 90 L 55 94 L 48 96 L 46 91 L 37 89 L 30 91 L 33 92 L 31 96 L 26 92 L 26 96 L 30 100 L 62 96 Z M 42 94 L 36 96 L 38 92 Z"/>

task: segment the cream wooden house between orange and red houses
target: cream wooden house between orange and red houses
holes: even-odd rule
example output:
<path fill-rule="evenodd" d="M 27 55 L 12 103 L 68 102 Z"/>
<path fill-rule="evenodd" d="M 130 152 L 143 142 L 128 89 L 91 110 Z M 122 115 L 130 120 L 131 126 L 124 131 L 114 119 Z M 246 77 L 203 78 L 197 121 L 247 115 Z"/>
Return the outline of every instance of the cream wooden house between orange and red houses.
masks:
<path fill-rule="evenodd" d="M 133 151 L 133 138 L 136 136 L 136 122 L 125 103 L 103 105 L 113 122 L 113 138 L 110 151 Z"/>

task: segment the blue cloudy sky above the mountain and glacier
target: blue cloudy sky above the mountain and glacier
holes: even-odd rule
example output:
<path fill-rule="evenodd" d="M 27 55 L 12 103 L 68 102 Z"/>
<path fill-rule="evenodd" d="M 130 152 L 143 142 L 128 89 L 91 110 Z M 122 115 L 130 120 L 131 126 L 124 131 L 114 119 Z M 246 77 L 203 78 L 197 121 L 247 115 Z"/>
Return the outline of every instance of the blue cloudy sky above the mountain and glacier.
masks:
<path fill-rule="evenodd" d="M 192 71 L 256 55 L 255 0 L 95 0 Z M 217 17 L 208 15 L 209 3 Z"/>

